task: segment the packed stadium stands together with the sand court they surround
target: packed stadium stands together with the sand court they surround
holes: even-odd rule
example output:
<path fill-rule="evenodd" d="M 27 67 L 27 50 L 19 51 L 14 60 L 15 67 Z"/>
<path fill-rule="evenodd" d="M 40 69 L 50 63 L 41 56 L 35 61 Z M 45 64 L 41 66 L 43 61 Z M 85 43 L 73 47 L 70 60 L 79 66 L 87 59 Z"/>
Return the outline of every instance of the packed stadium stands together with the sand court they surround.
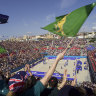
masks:
<path fill-rule="evenodd" d="M 26 64 L 34 78 L 42 80 L 56 56 L 66 50 L 71 38 L 38 41 L 3 41 L 0 42 L 0 72 L 8 80 L 24 71 Z M 11 47 L 10 47 L 11 46 Z M 94 92 L 96 88 L 96 48 L 88 45 L 86 39 L 75 38 L 67 48 L 64 58 L 59 62 L 53 77 L 58 79 L 58 86 L 62 82 L 63 71 L 67 69 L 67 85 L 76 76 L 76 87 L 88 87 Z M 29 75 L 29 72 L 28 72 Z M 82 77 L 82 78 L 81 78 Z M 36 81 L 35 80 L 35 81 Z M 34 85 L 34 84 L 33 84 Z"/>

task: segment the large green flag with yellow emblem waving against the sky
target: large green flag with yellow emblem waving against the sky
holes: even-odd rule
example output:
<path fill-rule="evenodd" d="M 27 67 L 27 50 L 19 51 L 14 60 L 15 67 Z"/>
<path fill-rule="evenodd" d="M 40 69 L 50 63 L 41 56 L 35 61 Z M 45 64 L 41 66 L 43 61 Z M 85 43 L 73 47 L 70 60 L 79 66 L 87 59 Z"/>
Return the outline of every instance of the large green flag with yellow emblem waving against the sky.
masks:
<path fill-rule="evenodd" d="M 76 36 L 80 27 L 95 6 L 96 2 L 80 7 L 69 14 L 56 17 L 55 22 L 43 27 L 42 29 L 60 36 Z"/>

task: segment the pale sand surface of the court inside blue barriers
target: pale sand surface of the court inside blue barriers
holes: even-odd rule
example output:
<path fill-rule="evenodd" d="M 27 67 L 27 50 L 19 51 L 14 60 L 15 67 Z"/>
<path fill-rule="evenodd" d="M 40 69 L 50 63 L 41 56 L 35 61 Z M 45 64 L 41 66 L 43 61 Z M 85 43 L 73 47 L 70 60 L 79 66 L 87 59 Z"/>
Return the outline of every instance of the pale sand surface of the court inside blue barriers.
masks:
<path fill-rule="evenodd" d="M 82 83 L 83 81 L 91 81 L 90 79 L 90 74 L 89 74 L 89 68 L 88 70 L 84 70 L 84 62 L 87 61 L 86 58 L 80 58 L 80 59 L 75 59 L 75 60 L 60 60 L 57 67 L 56 67 L 56 71 L 54 73 L 61 73 L 63 74 L 64 69 L 67 69 L 67 74 L 70 74 L 70 78 L 74 78 L 74 74 L 75 74 L 75 69 L 76 69 L 76 64 L 77 61 L 80 60 L 82 62 L 82 71 L 79 71 L 78 74 L 76 74 L 77 76 L 77 83 Z M 54 63 L 55 59 L 47 59 L 45 62 L 46 64 L 43 64 L 43 61 L 38 63 L 36 66 L 30 68 L 31 71 L 39 71 L 39 72 L 47 72 L 49 70 L 49 68 L 51 67 L 51 65 Z M 68 65 L 64 66 L 64 64 L 68 61 Z M 21 70 L 24 70 L 21 69 Z M 19 71 L 21 71 L 19 70 Z"/>

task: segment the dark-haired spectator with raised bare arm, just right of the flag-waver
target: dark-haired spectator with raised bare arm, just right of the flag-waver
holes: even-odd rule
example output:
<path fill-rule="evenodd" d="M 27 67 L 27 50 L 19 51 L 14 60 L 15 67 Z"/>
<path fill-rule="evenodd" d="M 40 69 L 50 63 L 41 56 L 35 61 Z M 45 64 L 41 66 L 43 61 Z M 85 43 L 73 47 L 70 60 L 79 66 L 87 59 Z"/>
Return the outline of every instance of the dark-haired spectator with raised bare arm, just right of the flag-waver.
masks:
<path fill-rule="evenodd" d="M 67 79 L 67 70 L 64 70 L 62 83 L 58 87 L 58 79 L 51 77 L 49 80 L 49 88 L 46 88 L 40 96 L 58 96 L 58 91 L 65 85 Z"/>

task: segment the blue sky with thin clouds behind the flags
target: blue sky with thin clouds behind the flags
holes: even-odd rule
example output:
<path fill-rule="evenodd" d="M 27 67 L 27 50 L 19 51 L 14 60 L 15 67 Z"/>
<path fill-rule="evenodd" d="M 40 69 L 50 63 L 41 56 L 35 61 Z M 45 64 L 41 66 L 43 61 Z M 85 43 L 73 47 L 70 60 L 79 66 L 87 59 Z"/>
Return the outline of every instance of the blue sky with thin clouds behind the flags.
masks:
<path fill-rule="evenodd" d="M 55 21 L 55 17 L 67 14 L 96 0 L 0 0 L 0 14 L 9 16 L 7 24 L 0 24 L 0 39 L 23 35 L 41 35 L 41 29 Z M 96 28 L 96 7 L 80 32 Z"/>

